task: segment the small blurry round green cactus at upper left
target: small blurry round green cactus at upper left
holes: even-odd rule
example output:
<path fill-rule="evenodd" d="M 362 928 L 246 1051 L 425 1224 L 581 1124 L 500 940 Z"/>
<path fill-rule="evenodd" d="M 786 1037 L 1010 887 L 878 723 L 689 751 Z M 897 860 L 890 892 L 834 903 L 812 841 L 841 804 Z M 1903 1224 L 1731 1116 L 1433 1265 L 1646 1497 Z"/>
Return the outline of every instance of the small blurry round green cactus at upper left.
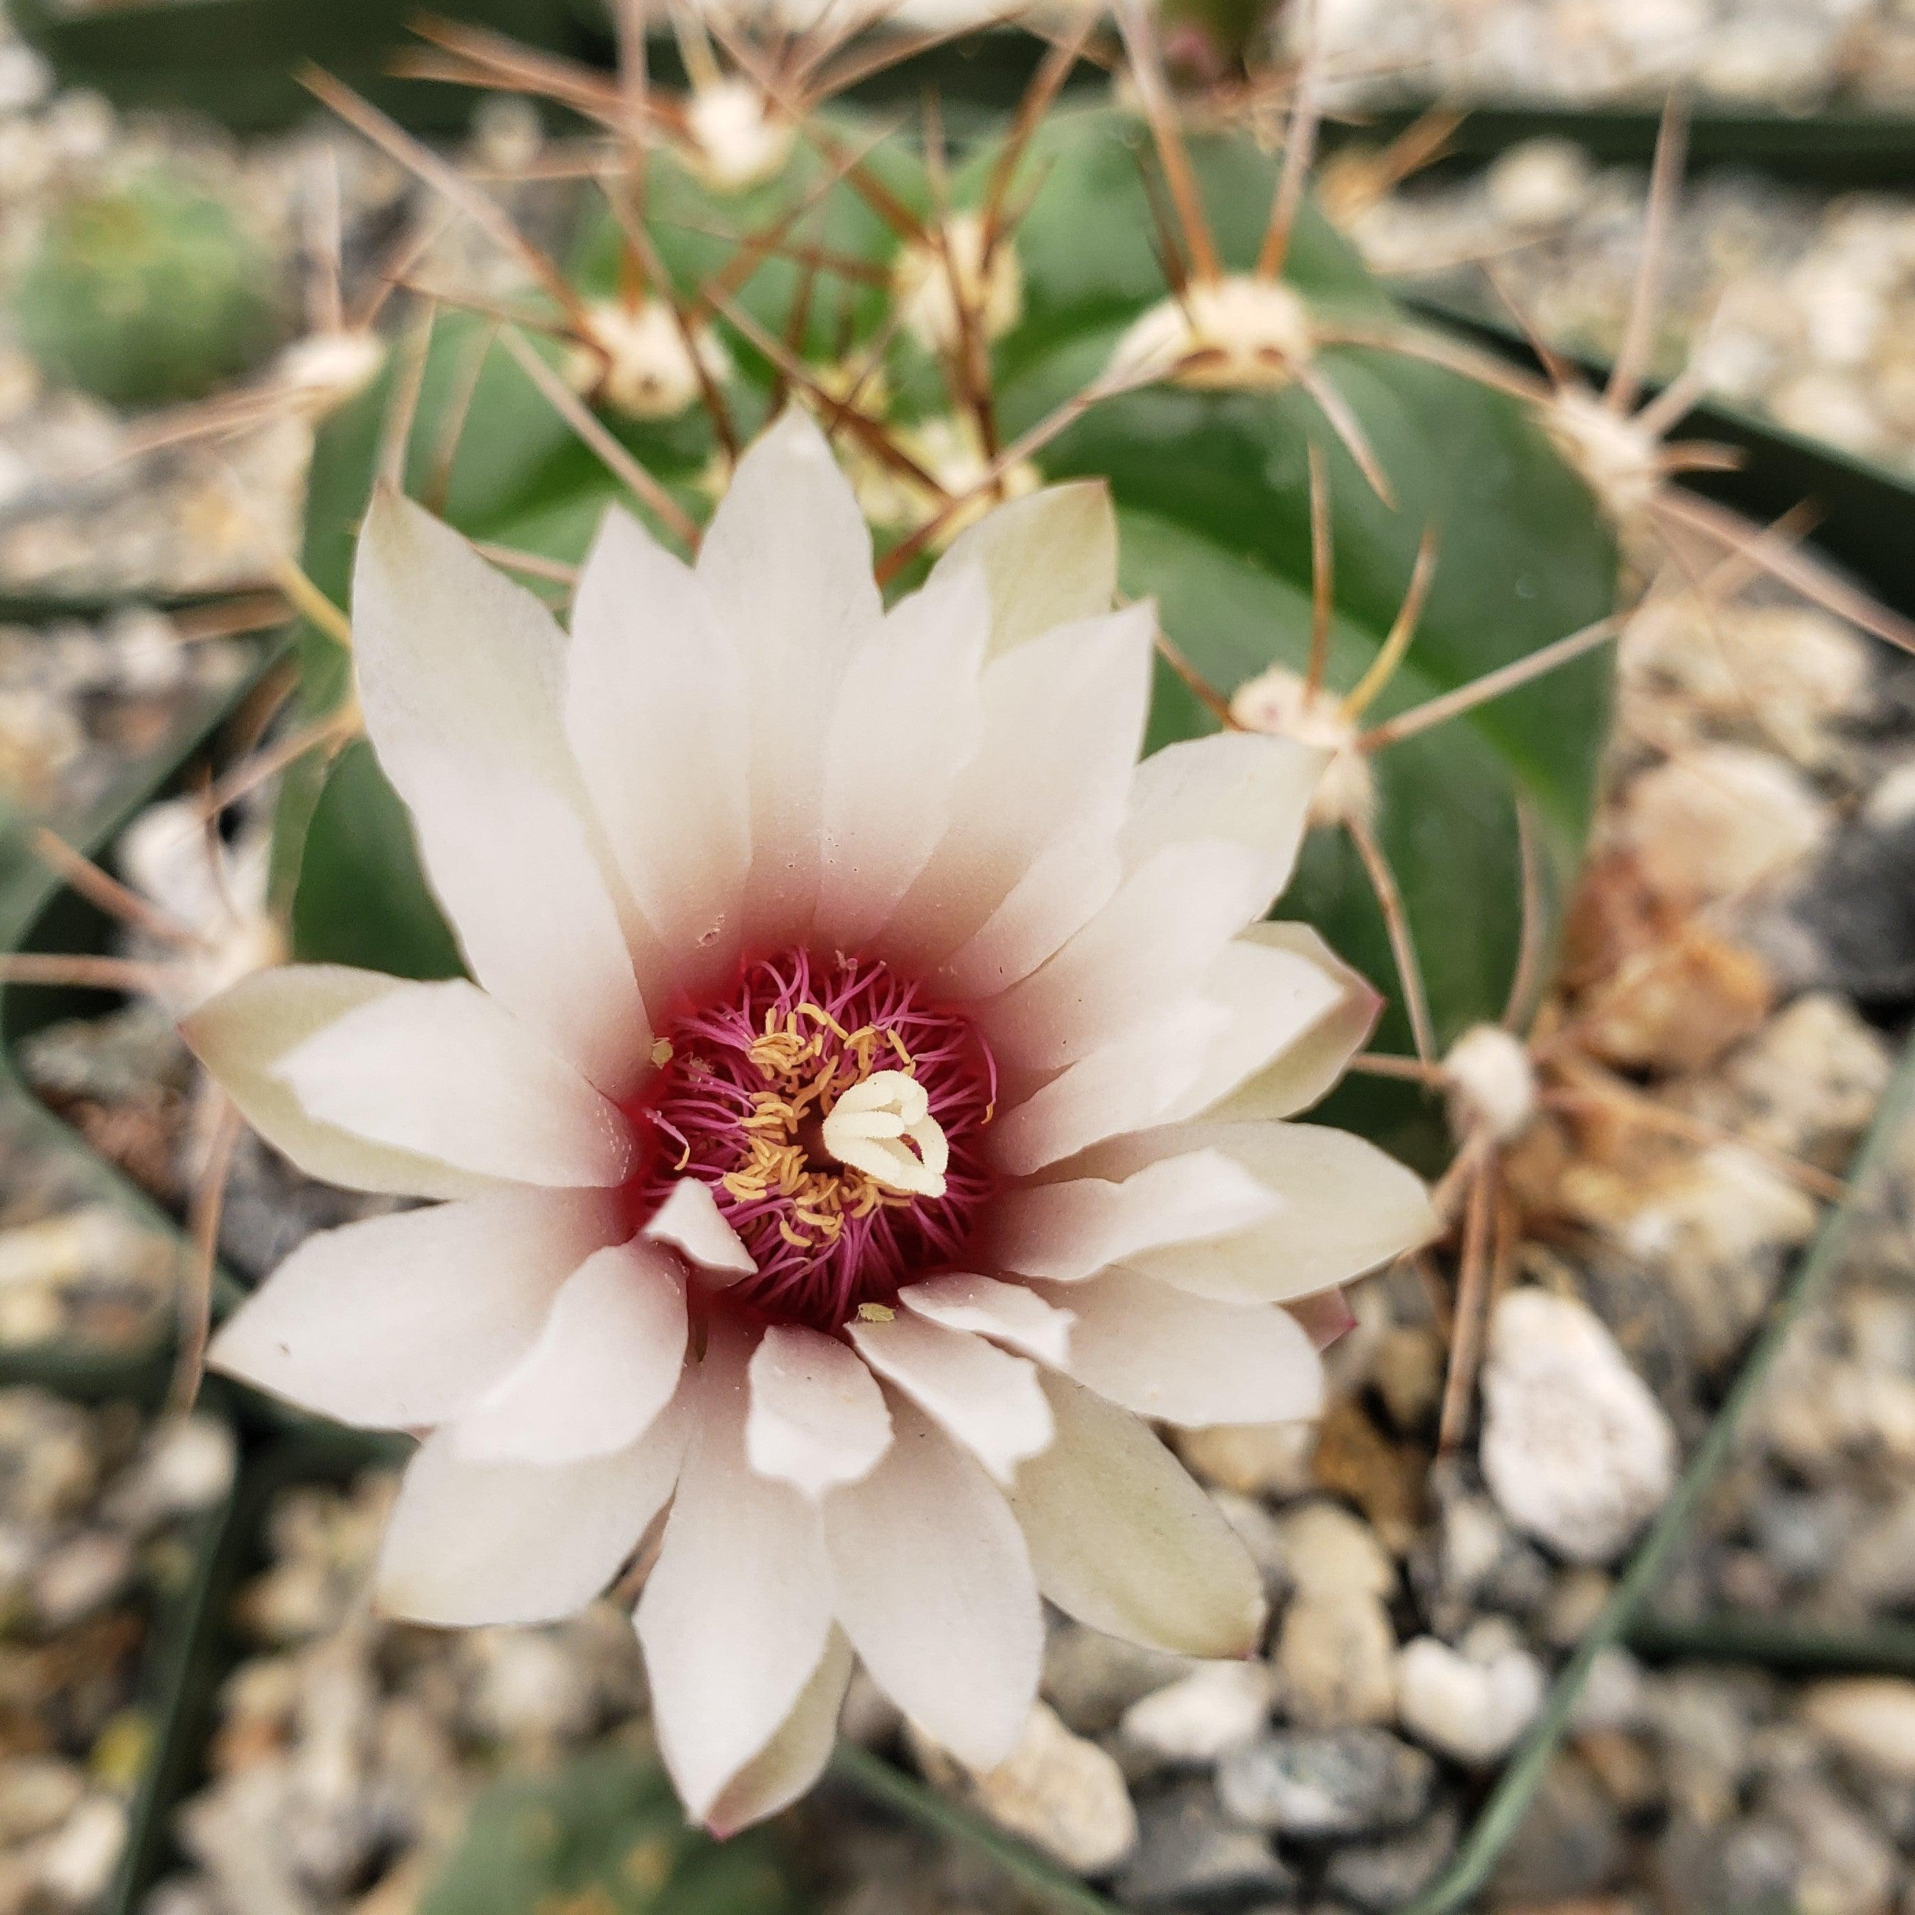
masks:
<path fill-rule="evenodd" d="M 50 214 L 13 322 L 48 377 L 109 404 L 201 398 L 272 349 L 274 278 L 232 207 L 155 167 Z"/>

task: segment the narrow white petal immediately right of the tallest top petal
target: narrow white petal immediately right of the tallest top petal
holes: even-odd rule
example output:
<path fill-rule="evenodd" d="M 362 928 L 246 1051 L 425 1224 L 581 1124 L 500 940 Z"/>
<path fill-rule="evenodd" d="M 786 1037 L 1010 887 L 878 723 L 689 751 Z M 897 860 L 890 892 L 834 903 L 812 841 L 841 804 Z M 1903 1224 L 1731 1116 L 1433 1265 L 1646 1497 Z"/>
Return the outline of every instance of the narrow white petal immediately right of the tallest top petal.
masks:
<path fill-rule="evenodd" d="M 867 940 L 952 822 L 982 730 L 990 605 L 975 567 L 902 599 L 850 665 L 825 758 L 818 933 Z"/>

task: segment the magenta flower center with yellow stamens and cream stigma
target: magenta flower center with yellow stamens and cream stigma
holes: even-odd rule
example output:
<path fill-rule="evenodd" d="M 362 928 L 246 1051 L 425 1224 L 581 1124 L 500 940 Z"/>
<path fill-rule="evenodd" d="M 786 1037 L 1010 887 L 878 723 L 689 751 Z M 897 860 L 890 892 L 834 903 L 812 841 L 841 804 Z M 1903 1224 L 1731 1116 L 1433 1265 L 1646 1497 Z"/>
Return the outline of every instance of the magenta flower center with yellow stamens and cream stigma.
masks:
<path fill-rule="evenodd" d="M 680 1178 L 709 1185 L 758 1264 L 724 1291 L 837 1329 L 954 1268 L 990 1174 L 996 1067 L 969 1019 L 889 965 L 793 950 L 661 1032 L 626 1107 L 628 1193 L 649 1218 Z"/>

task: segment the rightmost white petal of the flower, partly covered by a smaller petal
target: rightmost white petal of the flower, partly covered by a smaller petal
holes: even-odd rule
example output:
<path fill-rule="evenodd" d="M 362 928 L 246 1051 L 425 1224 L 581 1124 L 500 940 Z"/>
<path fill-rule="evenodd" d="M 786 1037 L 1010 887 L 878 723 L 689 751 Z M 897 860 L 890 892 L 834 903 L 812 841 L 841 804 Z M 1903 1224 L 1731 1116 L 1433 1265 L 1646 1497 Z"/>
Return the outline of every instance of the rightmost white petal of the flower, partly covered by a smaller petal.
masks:
<path fill-rule="evenodd" d="M 1128 1149 L 1130 1145 L 1126 1145 Z M 1216 1149 L 1279 1203 L 1268 1222 L 1214 1243 L 1134 1256 L 1195 1296 L 1283 1302 L 1375 1270 L 1436 1231 L 1423 1182 L 1373 1143 L 1321 1124 L 1180 1124 L 1136 1149 Z"/>

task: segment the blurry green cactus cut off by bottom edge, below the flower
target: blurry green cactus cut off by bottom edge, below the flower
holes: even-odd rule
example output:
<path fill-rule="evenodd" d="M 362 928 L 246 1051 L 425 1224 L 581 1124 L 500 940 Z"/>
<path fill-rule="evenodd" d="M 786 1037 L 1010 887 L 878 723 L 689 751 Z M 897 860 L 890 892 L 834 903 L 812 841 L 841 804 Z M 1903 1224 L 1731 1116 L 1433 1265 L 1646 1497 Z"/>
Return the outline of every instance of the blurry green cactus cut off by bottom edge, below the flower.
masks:
<path fill-rule="evenodd" d="M 620 1748 L 509 1775 L 473 1806 L 419 1915 L 797 1915 L 764 1836 L 686 1829 L 661 1769 Z"/>

